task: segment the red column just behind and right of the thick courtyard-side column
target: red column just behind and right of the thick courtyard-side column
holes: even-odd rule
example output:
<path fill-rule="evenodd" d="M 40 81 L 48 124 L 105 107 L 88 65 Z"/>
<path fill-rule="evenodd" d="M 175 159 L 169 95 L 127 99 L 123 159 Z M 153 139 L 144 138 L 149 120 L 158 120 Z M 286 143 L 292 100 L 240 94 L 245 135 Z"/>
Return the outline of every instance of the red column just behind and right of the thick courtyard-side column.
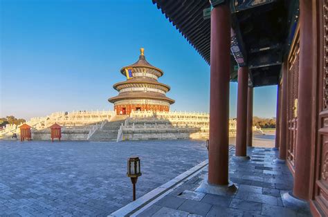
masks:
<path fill-rule="evenodd" d="M 236 156 L 246 157 L 248 67 L 238 69 Z"/>

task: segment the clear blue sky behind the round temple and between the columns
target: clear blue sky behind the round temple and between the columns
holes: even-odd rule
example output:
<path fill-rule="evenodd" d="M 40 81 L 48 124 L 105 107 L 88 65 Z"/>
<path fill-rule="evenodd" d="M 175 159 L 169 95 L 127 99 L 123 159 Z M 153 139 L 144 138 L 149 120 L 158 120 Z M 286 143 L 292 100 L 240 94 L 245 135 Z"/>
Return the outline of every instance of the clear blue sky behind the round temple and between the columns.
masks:
<path fill-rule="evenodd" d="M 0 116 L 113 110 L 119 70 L 139 48 L 163 69 L 174 111 L 209 111 L 210 67 L 147 1 L 0 0 Z M 255 88 L 254 115 L 275 116 L 276 86 Z M 237 83 L 230 85 L 236 116 Z"/>

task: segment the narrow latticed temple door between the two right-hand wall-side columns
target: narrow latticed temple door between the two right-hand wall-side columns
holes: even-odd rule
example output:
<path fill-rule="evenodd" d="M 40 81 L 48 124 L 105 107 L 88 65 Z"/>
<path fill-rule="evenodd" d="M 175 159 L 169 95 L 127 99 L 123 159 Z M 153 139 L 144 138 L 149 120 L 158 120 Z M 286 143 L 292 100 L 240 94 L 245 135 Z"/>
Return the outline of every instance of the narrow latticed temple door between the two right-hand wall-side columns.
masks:
<path fill-rule="evenodd" d="M 288 97 L 287 97 L 287 162 L 295 173 L 296 134 L 298 130 L 298 66 L 300 54 L 300 29 L 295 31 L 291 52 L 288 57 Z"/>

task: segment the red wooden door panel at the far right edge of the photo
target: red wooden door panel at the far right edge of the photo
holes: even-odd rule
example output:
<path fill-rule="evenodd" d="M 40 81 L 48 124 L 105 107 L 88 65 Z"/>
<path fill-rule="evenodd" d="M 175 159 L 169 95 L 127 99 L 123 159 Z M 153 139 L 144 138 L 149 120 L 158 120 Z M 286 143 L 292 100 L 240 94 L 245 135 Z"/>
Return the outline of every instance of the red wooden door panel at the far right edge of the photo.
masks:
<path fill-rule="evenodd" d="M 311 205 L 316 210 L 314 216 L 322 215 L 322 212 L 323 216 L 328 216 L 328 0 L 318 1 L 318 8 L 318 140 Z"/>

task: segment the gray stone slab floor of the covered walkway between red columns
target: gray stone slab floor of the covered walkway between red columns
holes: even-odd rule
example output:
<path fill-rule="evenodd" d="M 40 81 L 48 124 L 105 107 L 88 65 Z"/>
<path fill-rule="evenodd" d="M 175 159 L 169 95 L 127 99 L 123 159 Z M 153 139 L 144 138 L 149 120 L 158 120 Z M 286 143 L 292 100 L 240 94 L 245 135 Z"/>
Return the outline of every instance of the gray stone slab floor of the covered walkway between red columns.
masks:
<path fill-rule="evenodd" d="M 229 176 L 234 194 L 203 194 L 194 191 L 207 176 L 206 167 L 185 184 L 161 198 L 138 216 L 311 216 L 309 206 L 295 206 L 282 195 L 293 188 L 286 164 L 275 164 L 277 151 L 248 149 L 251 160 L 230 161 Z"/>

